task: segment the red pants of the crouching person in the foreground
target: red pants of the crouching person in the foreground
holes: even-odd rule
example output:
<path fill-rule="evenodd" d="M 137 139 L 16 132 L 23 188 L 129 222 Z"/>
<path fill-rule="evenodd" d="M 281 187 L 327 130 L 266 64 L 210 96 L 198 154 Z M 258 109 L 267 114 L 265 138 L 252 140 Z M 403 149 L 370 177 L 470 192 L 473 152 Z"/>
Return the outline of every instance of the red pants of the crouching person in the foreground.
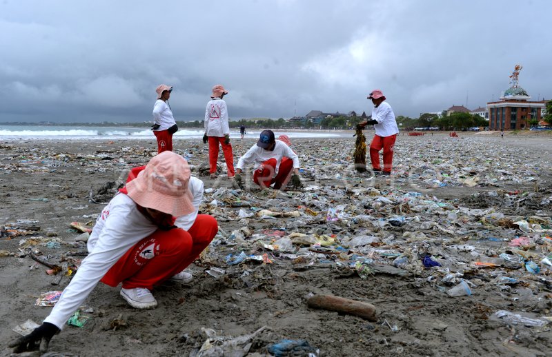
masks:
<path fill-rule="evenodd" d="M 152 289 L 195 261 L 218 230 L 215 218 L 207 214 L 198 214 L 188 231 L 157 230 L 128 249 L 101 282 L 112 287 L 123 282 L 125 289 Z"/>

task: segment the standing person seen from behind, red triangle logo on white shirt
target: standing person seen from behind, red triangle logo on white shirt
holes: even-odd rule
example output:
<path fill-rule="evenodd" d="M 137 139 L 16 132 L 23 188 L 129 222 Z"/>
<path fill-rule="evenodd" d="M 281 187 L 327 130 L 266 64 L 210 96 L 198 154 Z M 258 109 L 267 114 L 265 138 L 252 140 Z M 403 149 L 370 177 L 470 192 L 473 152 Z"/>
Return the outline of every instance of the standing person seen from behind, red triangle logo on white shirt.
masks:
<path fill-rule="evenodd" d="M 220 84 L 213 87 L 211 100 L 205 110 L 205 134 L 203 142 L 209 142 L 209 173 L 210 178 L 217 177 L 217 159 L 219 158 L 219 145 L 222 146 L 224 161 L 228 179 L 234 178 L 234 154 L 230 145 L 230 127 L 228 126 L 228 109 L 222 99 L 228 91 Z"/>

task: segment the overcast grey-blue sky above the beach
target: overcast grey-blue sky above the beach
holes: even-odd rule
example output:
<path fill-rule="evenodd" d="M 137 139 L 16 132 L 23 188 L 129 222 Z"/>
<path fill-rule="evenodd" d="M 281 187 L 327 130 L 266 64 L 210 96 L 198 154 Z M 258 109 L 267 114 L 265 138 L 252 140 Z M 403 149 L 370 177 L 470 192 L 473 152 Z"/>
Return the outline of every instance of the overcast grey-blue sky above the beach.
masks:
<path fill-rule="evenodd" d="M 0 0 L 0 121 L 150 121 L 161 83 L 177 120 L 203 119 L 217 83 L 230 119 L 370 114 L 375 88 L 417 117 L 497 100 L 516 63 L 551 99 L 551 14 L 549 0 Z"/>

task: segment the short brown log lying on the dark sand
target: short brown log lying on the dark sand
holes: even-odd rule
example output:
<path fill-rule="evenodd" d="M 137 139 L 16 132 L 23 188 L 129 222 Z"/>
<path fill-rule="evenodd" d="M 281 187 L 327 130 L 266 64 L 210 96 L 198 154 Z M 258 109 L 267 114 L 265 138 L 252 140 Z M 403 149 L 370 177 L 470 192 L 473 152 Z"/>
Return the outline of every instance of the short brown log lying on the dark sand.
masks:
<path fill-rule="evenodd" d="M 375 306 L 362 301 L 332 295 L 315 295 L 306 301 L 309 307 L 362 317 L 375 321 Z"/>

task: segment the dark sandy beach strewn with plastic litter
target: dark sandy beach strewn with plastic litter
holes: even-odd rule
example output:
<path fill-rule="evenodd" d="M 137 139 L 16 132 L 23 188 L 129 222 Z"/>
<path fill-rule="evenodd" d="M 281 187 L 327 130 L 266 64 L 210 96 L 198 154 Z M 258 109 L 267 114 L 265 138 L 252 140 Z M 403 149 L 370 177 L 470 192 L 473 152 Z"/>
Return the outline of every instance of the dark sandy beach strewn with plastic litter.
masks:
<path fill-rule="evenodd" d="M 267 345 L 284 338 L 308 341 L 319 356 L 549 354 L 552 270 L 541 262 L 552 251 L 552 137 L 400 135 L 393 175 L 385 181 L 353 170 L 350 134 L 294 139 L 304 189 L 284 192 L 252 184 L 233 191 L 224 167 L 218 179 L 202 176 L 207 145 L 177 139 L 175 152 L 204 181 L 201 212 L 215 216 L 220 228 L 190 266 L 194 280 L 160 285 L 153 292 L 159 306 L 145 311 L 129 307 L 120 287 L 99 283 L 82 308 L 90 320 L 66 326 L 52 339 L 50 351 L 58 354 L 50 356 L 197 356 L 213 331 L 237 337 L 264 326 L 249 356 L 266 355 Z M 366 133 L 368 144 L 372 135 Z M 233 139 L 235 161 L 255 141 Z M 46 274 L 48 267 L 31 254 L 59 265 L 84 258 L 86 246 L 75 242 L 80 232 L 70 223 L 93 229 L 130 167 L 145 165 L 155 153 L 153 136 L 0 141 L 0 250 L 12 254 L 0 256 L 2 356 L 10 355 L 7 343 L 18 336 L 12 328 L 48 316 L 51 308 L 35 303 L 40 294 L 61 291 L 70 281 Z M 265 217 L 260 210 L 298 213 Z M 294 233 L 330 242 L 298 243 L 294 236 L 286 251 L 263 245 Z M 353 243 L 365 236 L 370 243 Z M 520 237 L 526 243 L 511 244 Z M 266 254 L 270 263 L 228 264 L 240 252 Z M 424 267 L 424 256 L 441 266 Z M 408 263 L 397 264 L 401 257 Z M 371 274 L 361 278 L 355 261 L 370 266 Z M 528 261 L 539 272 L 529 272 Z M 224 273 L 209 274 L 213 267 Z M 462 279 L 471 295 L 449 296 Z M 312 294 L 371 303 L 377 320 L 311 309 L 306 299 Z M 495 314 L 501 310 L 542 325 L 512 323 Z"/>

